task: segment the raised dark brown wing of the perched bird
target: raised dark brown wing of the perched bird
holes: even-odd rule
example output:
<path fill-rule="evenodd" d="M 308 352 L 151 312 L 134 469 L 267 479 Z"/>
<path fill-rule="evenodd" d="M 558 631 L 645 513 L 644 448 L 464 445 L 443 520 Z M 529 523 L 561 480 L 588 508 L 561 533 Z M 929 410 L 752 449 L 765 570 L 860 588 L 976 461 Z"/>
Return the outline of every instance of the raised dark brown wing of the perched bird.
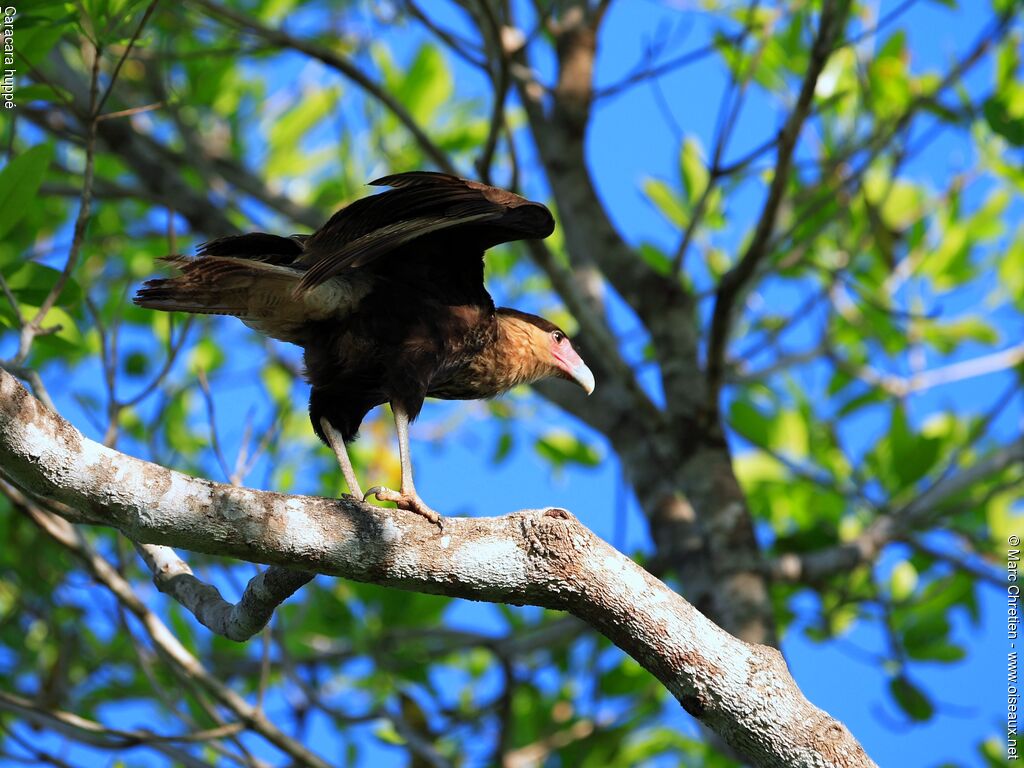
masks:
<path fill-rule="evenodd" d="M 479 253 L 499 243 L 546 238 L 554 229 L 542 204 L 445 173 L 414 171 L 371 183 L 392 188 L 343 208 L 305 241 L 300 290 L 425 236 L 443 232 L 450 248 Z"/>

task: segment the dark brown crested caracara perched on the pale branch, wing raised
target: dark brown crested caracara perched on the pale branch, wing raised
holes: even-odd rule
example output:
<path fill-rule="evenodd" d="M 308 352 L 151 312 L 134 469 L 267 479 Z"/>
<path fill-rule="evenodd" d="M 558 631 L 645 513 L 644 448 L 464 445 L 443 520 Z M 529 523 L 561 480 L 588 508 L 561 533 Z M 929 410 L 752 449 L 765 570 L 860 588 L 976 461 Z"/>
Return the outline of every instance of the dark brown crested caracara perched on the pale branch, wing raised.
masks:
<path fill-rule="evenodd" d="M 496 307 L 484 252 L 554 230 L 541 203 L 472 179 L 408 171 L 338 210 L 311 234 L 251 232 L 163 260 L 177 274 L 134 297 L 163 311 L 233 315 L 303 349 L 309 418 L 335 453 L 349 493 L 389 501 L 440 524 L 413 479 L 409 427 L 427 397 L 490 398 L 554 377 L 594 391 L 568 335 L 536 314 Z M 398 490 L 359 487 L 348 456 L 359 425 L 390 403 Z"/>

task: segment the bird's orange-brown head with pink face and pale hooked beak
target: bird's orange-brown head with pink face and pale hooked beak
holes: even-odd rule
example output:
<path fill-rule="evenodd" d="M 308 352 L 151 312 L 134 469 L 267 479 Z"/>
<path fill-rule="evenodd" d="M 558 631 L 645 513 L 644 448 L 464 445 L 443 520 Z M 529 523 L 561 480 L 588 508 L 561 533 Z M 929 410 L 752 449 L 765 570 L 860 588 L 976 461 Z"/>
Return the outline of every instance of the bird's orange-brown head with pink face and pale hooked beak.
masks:
<path fill-rule="evenodd" d="M 524 381 L 556 376 L 575 382 L 587 394 L 594 391 L 594 374 L 558 326 L 504 307 L 499 310 L 499 318 L 506 339 L 515 347 L 513 355 L 524 364 Z"/>

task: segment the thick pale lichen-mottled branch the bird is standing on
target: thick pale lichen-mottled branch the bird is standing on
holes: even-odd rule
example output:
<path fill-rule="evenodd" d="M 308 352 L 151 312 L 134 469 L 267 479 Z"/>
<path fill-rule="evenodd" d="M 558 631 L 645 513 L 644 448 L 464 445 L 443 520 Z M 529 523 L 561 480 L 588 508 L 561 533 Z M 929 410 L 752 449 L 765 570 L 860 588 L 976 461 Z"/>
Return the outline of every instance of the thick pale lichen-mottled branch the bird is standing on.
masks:
<path fill-rule="evenodd" d="M 0 371 L 0 466 L 133 541 L 357 581 L 567 610 L 764 766 L 873 765 L 804 698 L 774 649 L 744 643 L 560 510 L 452 518 L 189 477 L 85 438 Z"/>

